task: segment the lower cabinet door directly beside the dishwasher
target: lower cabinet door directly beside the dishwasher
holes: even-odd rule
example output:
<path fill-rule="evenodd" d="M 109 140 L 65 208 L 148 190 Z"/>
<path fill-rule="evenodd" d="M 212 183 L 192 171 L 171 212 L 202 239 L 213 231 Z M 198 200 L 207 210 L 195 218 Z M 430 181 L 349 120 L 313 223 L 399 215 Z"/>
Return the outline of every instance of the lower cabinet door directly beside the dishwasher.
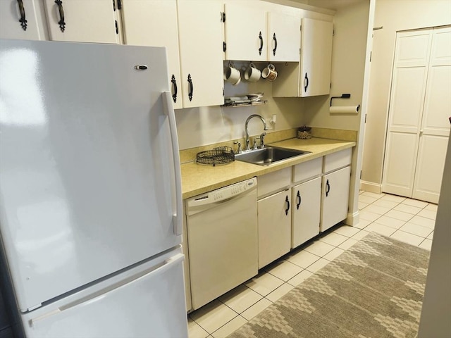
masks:
<path fill-rule="evenodd" d="M 259 269 L 290 251 L 291 193 L 278 192 L 257 202 Z"/>

